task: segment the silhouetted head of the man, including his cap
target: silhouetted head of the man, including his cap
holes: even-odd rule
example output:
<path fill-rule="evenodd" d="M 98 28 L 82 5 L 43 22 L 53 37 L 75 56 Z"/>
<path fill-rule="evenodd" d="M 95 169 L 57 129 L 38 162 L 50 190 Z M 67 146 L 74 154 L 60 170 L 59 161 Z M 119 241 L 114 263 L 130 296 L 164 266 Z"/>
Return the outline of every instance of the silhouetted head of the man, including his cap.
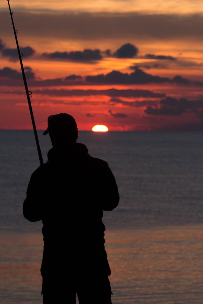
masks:
<path fill-rule="evenodd" d="M 52 145 L 75 143 L 78 138 L 77 124 L 73 116 L 60 113 L 48 117 L 48 128 L 43 135 L 51 137 Z"/>

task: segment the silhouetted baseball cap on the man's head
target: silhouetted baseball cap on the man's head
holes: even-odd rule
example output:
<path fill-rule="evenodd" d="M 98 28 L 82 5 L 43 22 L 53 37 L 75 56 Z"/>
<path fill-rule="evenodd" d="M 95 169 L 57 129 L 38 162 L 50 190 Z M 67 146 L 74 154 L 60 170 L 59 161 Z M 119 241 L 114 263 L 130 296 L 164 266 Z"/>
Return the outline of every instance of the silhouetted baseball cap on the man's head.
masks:
<path fill-rule="evenodd" d="M 48 128 L 44 131 L 43 135 L 52 133 L 63 133 L 77 130 L 77 124 L 73 116 L 60 113 L 48 117 Z"/>

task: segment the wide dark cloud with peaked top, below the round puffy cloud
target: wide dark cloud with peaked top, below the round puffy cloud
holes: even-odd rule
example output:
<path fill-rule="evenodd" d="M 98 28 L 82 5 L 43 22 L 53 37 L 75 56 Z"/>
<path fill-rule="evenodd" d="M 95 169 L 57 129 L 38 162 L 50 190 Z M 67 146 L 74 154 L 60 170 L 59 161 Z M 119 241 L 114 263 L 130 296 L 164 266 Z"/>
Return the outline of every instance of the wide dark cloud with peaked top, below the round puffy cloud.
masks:
<path fill-rule="evenodd" d="M 97 76 L 87 76 L 86 81 L 108 84 L 144 84 L 169 82 L 170 79 L 166 77 L 153 76 L 143 72 L 139 68 L 136 68 L 136 70 L 131 74 L 112 71 L 106 75 L 100 74 Z"/>

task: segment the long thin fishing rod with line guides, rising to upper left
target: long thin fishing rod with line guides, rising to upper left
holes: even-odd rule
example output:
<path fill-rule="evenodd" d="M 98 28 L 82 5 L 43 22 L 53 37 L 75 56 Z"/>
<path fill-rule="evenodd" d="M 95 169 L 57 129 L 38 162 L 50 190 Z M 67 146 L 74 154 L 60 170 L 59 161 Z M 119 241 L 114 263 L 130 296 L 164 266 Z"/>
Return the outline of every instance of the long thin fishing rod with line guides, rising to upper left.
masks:
<path fill-rule="evenodd" d="M 32 92 L 28 91 L 27 81 L 26 81 L 25 72 L 24 72 L 24 68 L 23 68 L 23 61 L 22 61 L 23 54 L 20 53 L 20 48 L 19 48 L 18 39 L 17 39 L 17 33 L 18 33 L 18 31 L 15 29 L 15 26 L 14 26 L 13 16 L 12 16 L 13 12 L 11 12 L 9 0 L 8 0 L 8 5 L 9 5 L 9 11 L 10 11 L 10 15 L 11 15 L 14 35 L 15 35 L 15 38 L 16 38 L 16 46 L 17 46 L 17 50 L 18 50 L 21 71 L 22 71 L 22 74 L 23 74 L 23 81 L 24 81 L 24 85 L 25 85 L 25 92 L 26 92 L 26 95 L 27 95 L 27 102 L 28 102 L 29 109 L 30 109 L 30 116 L 31 116 L 31 120 L 32 120 L 32 126 L 33 126 L 33 130 L 34 130 L 35 141 L 36 141 L 36 144 L 37 144 L 37 151 L 38 151 L 39 161 L 40 161 L 40 164 L 43 165 L 43 159 L 42 159 L 40 144 L 39 144 L 39 140 L 38 140 L 38 136 L 37 136 L 37 129 L 36 129 L 36 126 L 35 126 L 34 115 L 33 115 L 32 105 L 31 105 L 31 101 L 30 101 L 30 98 L 32 97 Z"/>

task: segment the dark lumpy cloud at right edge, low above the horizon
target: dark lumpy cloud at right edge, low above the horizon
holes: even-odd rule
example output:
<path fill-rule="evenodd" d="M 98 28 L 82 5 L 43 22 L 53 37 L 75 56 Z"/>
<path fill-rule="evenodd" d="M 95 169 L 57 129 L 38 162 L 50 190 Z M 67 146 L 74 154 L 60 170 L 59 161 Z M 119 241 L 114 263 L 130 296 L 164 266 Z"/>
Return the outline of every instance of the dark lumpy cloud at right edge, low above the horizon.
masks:
<path fill-rule="evenodd" d="M 203 109 L 203 100 L 189 101 L 185 98 L 179 100 L 172 97 L 166 97 L 159 103 L 159 107 L 153 108 L 147 106 L 144 112 L 148 115 L 167 115 L 167 116 L 179 116 L 182 113 L 193 112 L 196 116 L 199 115 L 198 110 Z M 201 111 L 200 111 L 201 112 Z"/>

